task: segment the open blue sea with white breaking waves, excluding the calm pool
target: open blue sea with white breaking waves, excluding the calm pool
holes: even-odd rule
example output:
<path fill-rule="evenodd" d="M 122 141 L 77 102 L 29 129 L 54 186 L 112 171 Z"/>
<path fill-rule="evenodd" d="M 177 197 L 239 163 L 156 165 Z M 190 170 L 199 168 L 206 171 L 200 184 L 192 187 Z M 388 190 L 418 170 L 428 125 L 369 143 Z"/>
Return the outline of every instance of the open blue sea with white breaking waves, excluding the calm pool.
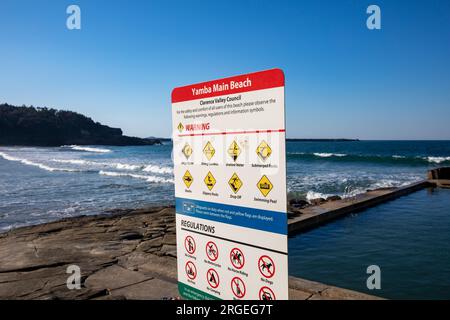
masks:
<path fill-rule="evenodd" d="M 450 141 L 288 142 L 288 192 L 362 193 L 450 165 Z M 0 232 L 64 217 L 174 201 L 170 142 L 157 146 L 0 147 Z"/>

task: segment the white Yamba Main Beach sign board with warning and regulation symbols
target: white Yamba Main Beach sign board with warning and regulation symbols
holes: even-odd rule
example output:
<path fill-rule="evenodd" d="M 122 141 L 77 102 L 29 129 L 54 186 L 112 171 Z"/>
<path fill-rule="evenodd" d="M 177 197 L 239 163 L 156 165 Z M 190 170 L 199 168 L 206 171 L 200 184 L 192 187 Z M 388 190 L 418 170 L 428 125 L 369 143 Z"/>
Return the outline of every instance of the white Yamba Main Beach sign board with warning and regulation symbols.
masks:
<path fill-rule="evenodd" d="M 186 299 L 288 299 L 284 74 L 172 92 L 178 285 Z"/>

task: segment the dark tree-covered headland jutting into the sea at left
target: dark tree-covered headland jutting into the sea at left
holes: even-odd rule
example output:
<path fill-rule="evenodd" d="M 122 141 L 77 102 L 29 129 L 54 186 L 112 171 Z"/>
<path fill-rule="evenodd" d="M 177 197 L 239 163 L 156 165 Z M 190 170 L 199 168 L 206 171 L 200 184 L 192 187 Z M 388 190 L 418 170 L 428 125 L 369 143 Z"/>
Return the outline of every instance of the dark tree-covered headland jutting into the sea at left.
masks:
<path fill-rule="evenodd" d="M 0 104 L 0 145 L 3 146 L 154 144 L 161 141 L 124 136 L 121 129 L 94 122 L 76 112 Z"/>

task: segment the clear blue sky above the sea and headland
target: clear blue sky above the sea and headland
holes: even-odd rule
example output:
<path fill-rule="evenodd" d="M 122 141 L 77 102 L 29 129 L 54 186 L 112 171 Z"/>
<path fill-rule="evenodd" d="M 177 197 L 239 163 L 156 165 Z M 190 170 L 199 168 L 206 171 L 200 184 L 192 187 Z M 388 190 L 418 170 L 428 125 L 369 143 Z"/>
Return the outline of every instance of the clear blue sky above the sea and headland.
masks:
<path fill-rule="evenodd" d="M 449 39 L 446 0 L 2 0 L 0 102 L 168 137 L 174 87 L 278 67 L 288 137 L 450 139 Z"/>

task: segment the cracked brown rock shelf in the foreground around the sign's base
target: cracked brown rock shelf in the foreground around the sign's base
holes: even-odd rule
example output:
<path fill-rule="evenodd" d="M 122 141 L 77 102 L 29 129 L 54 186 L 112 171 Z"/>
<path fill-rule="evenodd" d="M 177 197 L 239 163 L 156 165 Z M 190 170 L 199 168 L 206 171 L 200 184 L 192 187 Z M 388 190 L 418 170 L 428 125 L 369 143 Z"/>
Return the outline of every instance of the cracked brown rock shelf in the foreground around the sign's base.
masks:
<path fill-rule="evenodd" d="M 82 289 L 66 286 L 67 266 Z M 173 207 L 77 217 L 0 234 L 0 299 L 177 298 Z M 290 278 L 291 299 L 376 299 Z"/>

